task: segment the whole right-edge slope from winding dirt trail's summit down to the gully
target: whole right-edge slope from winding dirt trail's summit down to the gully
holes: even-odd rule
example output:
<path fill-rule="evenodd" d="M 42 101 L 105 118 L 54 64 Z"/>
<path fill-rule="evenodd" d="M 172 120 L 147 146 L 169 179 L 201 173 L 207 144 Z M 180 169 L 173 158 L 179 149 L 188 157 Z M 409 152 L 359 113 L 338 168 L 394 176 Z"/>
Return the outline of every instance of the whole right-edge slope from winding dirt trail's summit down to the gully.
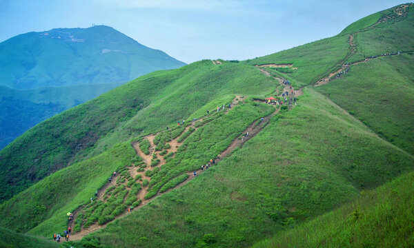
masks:
<path fill-rule="evenodd" d="M 387 141 L 414 154 L 412 6 L 403 4 L 384 10 L 377 23 L 354 30 L 351 35 L 356 52 L 348 62 L 368 58 L 366 63 L 351 65 L 352 73 L 344 74 L 318 90 Z"/>

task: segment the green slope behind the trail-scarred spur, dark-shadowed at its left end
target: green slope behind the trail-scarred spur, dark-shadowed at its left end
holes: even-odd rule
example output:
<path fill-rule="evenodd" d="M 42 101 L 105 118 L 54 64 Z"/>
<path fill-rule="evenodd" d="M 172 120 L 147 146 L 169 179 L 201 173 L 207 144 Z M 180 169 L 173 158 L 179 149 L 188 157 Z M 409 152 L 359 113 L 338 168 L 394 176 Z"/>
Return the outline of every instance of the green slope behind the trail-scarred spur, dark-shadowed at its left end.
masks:
<path fill-rule="evenodd" d="M 142 76 L 48 119 L 5 147 L 0 152 L 0 199 L 73 161 L 182 120 L 218 96 L 264 94 L 276 84 L 247 65 L 211 61 Z"/>

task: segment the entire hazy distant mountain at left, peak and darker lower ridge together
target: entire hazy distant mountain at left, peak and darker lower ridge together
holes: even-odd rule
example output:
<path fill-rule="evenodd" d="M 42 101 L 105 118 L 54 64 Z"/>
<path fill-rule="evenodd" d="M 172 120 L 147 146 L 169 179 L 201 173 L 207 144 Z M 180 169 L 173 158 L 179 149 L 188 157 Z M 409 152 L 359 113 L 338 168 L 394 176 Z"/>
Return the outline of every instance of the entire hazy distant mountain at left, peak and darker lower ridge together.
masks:
<path fill-rule="evenodd" d="M 0 149 L 37 123 L 127 81 L 179 68 L 104 25 L 29 32 L 0 43 Z"/>

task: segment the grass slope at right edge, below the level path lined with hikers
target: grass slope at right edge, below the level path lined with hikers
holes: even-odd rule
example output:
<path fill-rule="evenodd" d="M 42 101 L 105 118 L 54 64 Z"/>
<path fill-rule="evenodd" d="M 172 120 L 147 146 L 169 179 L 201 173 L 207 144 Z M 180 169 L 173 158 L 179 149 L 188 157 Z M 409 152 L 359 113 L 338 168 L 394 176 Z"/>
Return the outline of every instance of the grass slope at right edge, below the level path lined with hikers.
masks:
<path fill-rule="evenodd" d="M 414 154 L 414 56 L 380 57 L 354 65 L 318 87 L 387 141 Z"/>

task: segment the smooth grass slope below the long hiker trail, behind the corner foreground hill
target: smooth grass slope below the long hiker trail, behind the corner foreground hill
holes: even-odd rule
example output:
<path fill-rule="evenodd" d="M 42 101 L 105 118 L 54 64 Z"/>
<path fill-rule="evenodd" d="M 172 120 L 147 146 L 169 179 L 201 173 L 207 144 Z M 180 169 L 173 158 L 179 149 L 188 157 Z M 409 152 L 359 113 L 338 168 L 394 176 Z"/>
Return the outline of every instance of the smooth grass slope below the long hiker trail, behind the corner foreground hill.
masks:
<path fill-rule="evenodd" d="M 217 167 L 81 243 L 247 247 L 412 169 L 413 161 L 306 90 L 297 107 L 274 116 Z"/>

